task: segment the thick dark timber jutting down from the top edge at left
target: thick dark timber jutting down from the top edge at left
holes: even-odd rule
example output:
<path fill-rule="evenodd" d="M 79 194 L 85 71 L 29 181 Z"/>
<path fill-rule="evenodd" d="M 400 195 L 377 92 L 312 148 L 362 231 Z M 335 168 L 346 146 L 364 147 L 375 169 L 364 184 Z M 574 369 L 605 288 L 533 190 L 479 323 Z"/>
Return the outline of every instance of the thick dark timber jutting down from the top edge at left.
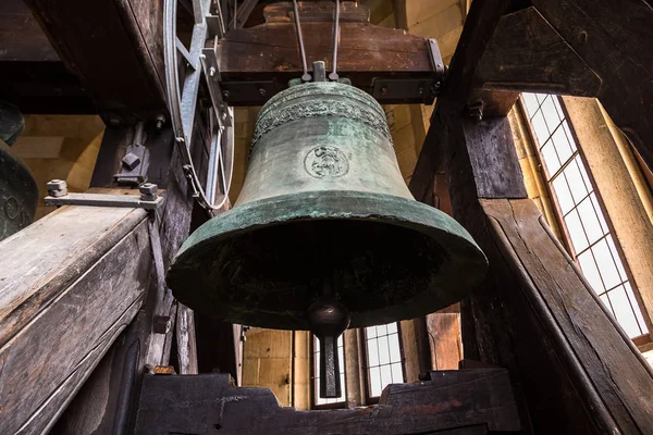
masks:
<path fill-rule="evenodd" d="M 25 0 L 98 113 L 133 122 L 164 113 L 162 0 Z"/>

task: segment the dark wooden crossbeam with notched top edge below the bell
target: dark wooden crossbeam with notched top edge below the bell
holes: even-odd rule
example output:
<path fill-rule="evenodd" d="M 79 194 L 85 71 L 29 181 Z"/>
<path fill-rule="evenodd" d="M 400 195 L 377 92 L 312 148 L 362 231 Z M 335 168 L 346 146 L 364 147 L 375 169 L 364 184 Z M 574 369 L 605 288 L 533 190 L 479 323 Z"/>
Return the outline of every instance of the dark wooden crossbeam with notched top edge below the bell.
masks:
<path fill-rule="evenodd" d="M 135 433 L 448 434 L 479 424 L 519 430 L 503 369 L 431 372 L 427 382 L 387 386 L 378 406 L 329 412 L 282 408 L 269 389 L 230 387 L 223 374 L 148 375 Z"/>

